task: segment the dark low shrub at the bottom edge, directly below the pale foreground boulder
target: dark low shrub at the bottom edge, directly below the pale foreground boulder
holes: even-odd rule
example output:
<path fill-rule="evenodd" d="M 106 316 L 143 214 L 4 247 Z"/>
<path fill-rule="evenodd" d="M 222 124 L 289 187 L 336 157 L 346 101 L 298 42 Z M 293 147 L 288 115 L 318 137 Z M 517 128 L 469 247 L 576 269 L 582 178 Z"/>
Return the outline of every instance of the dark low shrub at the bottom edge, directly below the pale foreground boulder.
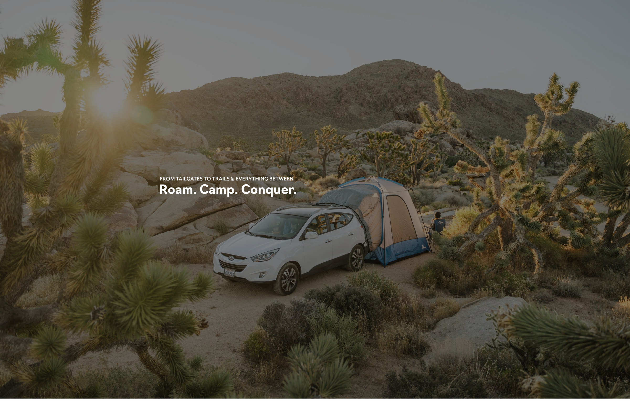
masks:
<path fill-rule="evenodd" d="M 476 370 L 454 356 L 438 358 L 418 371 L 403 366 L 387 372 L 385 398 L 486 398 L 488 392 Z"/>

